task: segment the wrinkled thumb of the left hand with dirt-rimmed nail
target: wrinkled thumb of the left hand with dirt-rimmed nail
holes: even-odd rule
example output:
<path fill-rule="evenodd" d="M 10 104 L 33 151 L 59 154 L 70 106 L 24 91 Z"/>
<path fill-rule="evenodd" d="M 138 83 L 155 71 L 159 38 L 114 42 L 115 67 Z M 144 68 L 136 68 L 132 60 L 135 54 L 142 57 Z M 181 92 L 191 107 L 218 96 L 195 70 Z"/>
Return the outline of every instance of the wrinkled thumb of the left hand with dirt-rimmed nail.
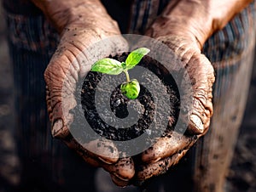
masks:
<path fill-rule="evenodd" d="M 86 76 L 90 71 L 90 65 L 97 58 L 128 48 L 122 36 L 113 36 L 102 41 L 95 39 L 91 34 L 80 34 L 80 36 L 88 42 L 87 48 L 77 39 L 71 43 L 70 34 L 66 34 L 62 37 L 61 44 L 44 72 L 49 118 L 55 138 L 67 137 L 68 127 L 73 122 L 73 115 L 69 110 L 77 104 L 74 93 L 79 78 Z"/>

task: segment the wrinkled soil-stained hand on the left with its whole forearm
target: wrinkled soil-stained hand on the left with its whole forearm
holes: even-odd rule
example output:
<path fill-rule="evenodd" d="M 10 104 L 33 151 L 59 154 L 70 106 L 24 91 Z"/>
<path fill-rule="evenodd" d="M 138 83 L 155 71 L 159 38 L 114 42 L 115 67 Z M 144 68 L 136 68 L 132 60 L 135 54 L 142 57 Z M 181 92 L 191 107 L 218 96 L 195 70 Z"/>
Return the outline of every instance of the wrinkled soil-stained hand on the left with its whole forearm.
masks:
<path fill-rule="evenodd" d="M 124 50 L 122 38 L 108 41 L 102 48 L 91 46 L 102 39 L 119 35 L 119 27 L 107 14 L 99 1 L 34 1 L 61 34 L 61 41 L 44 72 L 47 107 L 52 123 L 52 135 L 60 138 L 77 151 L 84 161 L 110 172 L 113 182 L 120 186 L 128 184 L 134 175 L 131 157 L 119 159 L 119 151 L 112 142 L 93 140 L 86 150 L 70 133 L 73 123 L 71 110 L 76 107 L 76 83 L 90 71 L 92 53 L 98 58 Z M 84 4 L 83 4 L 84 3 Z M 90 50 L 89 50 L 90 49 Z M 96 153 L 94 153 L 96 152 Z M 98 155 L 102 154 L 102 155 Z"/>

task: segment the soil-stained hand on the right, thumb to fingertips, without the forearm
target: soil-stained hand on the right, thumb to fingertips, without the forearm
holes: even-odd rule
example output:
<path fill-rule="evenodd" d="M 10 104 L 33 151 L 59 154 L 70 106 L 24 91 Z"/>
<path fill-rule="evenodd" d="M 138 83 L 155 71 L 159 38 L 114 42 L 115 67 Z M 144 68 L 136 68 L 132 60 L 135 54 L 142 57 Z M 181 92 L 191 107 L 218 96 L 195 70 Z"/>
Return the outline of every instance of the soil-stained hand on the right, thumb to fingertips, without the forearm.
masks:
<path fill-rule="evenodd" d="M 201 54 L 196 43 L 187 38 L 162 36 L 155 39 L 171 48 L 181 61 L 181 67 L 188 72 L 193 91 L 192 106 L 188 111 L 188 128 L 184 134 L 169 131 L 143 152 L 142 164 L 138 166 L 135 176 L 137 184 L 142 184 L 146 179 L 160 175 L 177 164 L 197 139 L 207 133 L 212 116 L 214 73 L 209 60 Z"/>

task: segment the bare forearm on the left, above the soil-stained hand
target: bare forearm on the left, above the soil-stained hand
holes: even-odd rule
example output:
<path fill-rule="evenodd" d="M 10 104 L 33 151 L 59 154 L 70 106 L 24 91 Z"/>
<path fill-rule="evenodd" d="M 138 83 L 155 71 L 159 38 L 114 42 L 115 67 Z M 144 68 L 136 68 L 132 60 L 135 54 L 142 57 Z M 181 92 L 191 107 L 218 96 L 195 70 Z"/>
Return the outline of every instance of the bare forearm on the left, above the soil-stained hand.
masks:
<path fill-rule="evenodd" d="M 108 15 L 99 0 L 31 0 L 40 8 L 56 29 L 66 26 L 96 28 L 103 26 L 106 31 L 119 33 L 116 22 Z"/>

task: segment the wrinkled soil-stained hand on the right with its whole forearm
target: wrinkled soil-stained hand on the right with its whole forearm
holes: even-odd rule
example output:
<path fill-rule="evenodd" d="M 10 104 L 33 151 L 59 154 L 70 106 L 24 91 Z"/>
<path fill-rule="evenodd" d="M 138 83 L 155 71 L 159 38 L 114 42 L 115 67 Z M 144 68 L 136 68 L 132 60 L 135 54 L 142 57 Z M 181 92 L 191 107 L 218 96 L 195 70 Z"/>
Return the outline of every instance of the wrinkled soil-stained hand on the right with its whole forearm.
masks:
<path fill-rule="evenodd" d="M 173 0 L 146 31 L 146 35 L 165 43 L 181 61 L 191 79 L 193 104 L 187 133 L 170 132 L 142 154 L 143 164 L 136 178 L 147 178 L 166 172 L 186 154 L 196 140 L 207 133 L 212 116 L 214 71 L 201 54 L 201 48 L 212 33 L 224 26 L 251 0 Z M 170 64 L 171 65 L 171 64 Z"/>

